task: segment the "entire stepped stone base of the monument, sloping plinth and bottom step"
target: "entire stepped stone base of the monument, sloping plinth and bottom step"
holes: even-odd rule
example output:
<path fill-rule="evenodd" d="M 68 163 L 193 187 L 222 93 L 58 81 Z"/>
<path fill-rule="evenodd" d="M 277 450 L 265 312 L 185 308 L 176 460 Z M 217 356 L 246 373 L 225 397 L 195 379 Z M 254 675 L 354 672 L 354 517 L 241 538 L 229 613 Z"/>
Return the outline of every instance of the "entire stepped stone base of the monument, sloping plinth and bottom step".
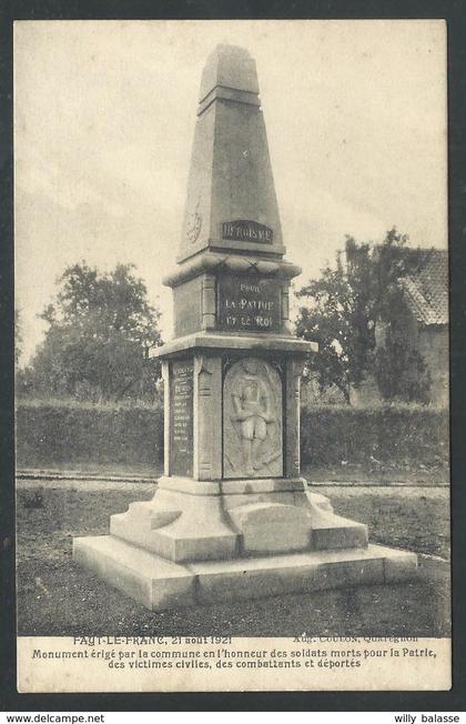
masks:
<path fill-rule="evenodd" d="M 148 609 L 405 581 L 417 556 L 368 545 L 302 477 L 161 477 L 151 501 L 111 516 L 110 535 L 78 537 L 74 561 Z"/>

